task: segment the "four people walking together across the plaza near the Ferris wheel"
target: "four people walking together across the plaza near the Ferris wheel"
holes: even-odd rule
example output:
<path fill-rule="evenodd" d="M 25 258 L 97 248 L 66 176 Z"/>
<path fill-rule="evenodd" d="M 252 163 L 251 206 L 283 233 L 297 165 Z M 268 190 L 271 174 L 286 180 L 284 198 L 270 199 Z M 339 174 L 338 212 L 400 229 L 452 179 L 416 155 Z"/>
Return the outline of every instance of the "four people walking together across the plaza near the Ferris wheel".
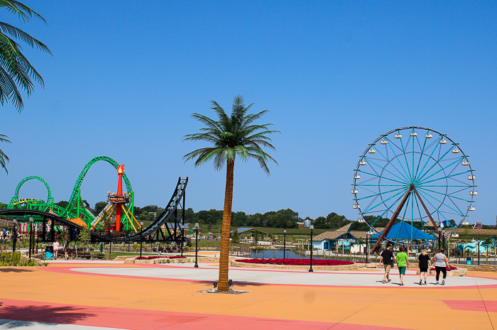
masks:
<path fill-rule="evenodd" d="M 404 275 L 405 270 L 409 268 L 409 256 L 404 252 L 403 246 L 399 247 L 399 252 L 396 255 L 393 255 L 392 246 L 388 244 L 386 249 L 380 255 L 380 265 L 383 265 L 385 268 L 385 275 L 383 276 L 383 284 L 389 283 L 392 280 L 389 277 L 390 270 L 397 263 L 398 273 L 400 275 L 400 285 L 404 285 Z M 450 267 L 449 260 L 447 259 L 447 255 L 444 255 L 444 249 L 439 249 L 439 252 L 434 255 L 433 258 L 430 258 L 430 255 L 423 250 L 420 255 L 417 257 L 417 265 L 420 268 L 420 285 L 423 284 L 423 277 L 425 279 L 425 285 L 427 285 L 427 276 L 428 269 L 435 266 L 437 285 L 439 284 L 440 273 L 443 274 L 442 285 L 445 284 L 445 277 L 447 277 L 447 270 Z"/>

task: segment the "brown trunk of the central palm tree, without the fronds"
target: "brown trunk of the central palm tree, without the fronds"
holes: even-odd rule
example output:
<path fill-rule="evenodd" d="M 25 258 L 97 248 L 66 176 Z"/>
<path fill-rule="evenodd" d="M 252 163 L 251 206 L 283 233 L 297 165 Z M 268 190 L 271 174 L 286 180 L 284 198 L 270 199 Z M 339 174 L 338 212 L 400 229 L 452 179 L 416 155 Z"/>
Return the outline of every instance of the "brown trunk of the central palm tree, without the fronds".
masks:
<path fill-rule="evenodd" d="M 224 191 L 224 211 L 221 231 L 221 253 L 219 258 L 219 284 L 217 291 L 229 290 L 229 230 L 231 229 L 231 204 L 233 204 L 233 170 L 235 162 L 228 162 L 226 166 L 226 190 Z"/>

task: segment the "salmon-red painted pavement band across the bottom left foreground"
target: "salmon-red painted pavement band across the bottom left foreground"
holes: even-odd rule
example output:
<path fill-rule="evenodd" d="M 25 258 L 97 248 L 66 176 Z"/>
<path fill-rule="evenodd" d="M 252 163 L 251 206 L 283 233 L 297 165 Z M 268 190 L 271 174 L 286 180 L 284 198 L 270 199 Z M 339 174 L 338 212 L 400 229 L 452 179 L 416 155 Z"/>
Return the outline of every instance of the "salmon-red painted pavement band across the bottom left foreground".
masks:
<path fill-rule="evenodd" d="M 56 324 L 102 326 L 117 329 L 333 329 L 337 330 L 406 330 L 385 326 L 336 324 L 331 322 L 264 319 L 217 314 L 161 312 L 146 309 L 105 308 L 53 304 L 26 300 L 0 299 L 0 319 L 36 321 Z M 242 326 L 243 325 L 243 326 Z"/>

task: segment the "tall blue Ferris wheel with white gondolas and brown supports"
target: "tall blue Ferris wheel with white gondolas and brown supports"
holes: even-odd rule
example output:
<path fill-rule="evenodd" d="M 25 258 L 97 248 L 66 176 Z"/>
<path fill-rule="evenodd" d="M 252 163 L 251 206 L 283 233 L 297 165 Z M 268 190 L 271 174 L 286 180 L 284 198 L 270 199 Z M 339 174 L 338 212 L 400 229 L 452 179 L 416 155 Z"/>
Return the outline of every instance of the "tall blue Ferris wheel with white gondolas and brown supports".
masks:
<path fill-rule="evenodd" d="M 475 179 L 468 155 L 446 134 L 417 126 L 397 128 L 359 156 L 353 207 L 378 234 L 378 221 L 387 218 L 386 233 L 398 219 L 422 230 L 449 225 L 449 235 L 475 210 Z M 415 244 L 413 237 L 410 243 Z"/>

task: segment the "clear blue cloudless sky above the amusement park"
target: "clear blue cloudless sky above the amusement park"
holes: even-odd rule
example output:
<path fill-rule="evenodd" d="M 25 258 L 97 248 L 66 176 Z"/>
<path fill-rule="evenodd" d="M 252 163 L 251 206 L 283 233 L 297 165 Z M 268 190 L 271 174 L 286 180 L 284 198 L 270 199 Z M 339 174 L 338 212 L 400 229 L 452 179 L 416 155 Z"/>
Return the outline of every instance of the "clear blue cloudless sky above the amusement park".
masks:
<path fill-rule="evenodd" d="M 28 175 L 69 199 L 82 167 L 107 155 L 126 165 L 136 205 L 165 207 L 190 177 L 187 207 L 222 209 L 224 172 L 195 169 L 182 143 L 242 94 L 274 123 L 267 177 L 255 161 L 235 165 L 234 211 L 334 211 L 356 219 L 353 169 L 381 133 L 425 126 L 446 133 L 476 170 L 476 211 L 495 224 L 497 175 L 495 1 L 25 1 L 48 21 L 3 21 L 46 43 L 26 55 L 45 79 L 17 114 L 2 107 L 12 144 L 0 201 Z M 90 204 L 115 191 L 111 165 L 82 185 Z M 492 188 L 493 187 L 493 188 Z M 31 180 L 20 197 L 46 199 Z"/>

